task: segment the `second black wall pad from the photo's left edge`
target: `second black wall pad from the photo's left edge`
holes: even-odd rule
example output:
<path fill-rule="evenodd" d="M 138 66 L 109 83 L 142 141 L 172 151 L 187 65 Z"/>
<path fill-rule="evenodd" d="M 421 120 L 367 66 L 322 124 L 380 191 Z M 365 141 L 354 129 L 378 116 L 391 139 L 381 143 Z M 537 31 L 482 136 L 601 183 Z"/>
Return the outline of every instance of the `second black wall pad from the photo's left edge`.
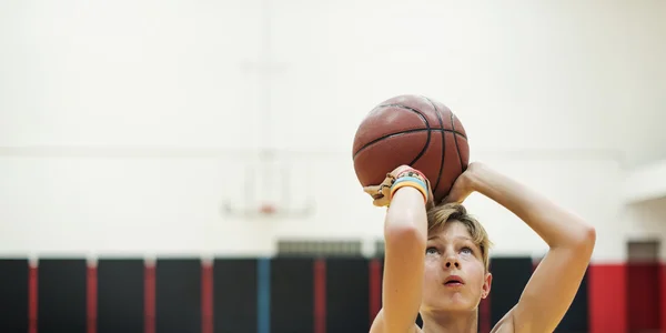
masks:
<path fill-rule="evenodd" d="M 39 333 L 87 332 L 87 270 L 84 259 L 39 261 Z"/>

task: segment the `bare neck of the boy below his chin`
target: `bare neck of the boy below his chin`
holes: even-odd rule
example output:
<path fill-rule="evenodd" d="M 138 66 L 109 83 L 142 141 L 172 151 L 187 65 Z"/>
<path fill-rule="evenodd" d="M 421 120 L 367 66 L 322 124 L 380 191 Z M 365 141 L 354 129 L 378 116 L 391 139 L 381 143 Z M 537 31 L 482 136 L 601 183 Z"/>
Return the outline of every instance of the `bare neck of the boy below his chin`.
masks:
<path fill-rule="evenodd" d="M 476 333 L 478 312 L 427 313 L 422 314 L 424 333 Z"/>

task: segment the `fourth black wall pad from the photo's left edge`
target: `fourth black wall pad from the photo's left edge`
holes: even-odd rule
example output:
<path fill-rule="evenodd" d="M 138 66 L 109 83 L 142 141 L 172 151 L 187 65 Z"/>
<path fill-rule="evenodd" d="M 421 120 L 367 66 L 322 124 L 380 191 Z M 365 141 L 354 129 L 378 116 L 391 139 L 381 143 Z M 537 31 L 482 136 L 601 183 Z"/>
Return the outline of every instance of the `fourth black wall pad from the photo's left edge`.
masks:
<path fill-rule="evenodd" d="M 158 259 L 157 333 L 201 333 L 201 260 Z"/>

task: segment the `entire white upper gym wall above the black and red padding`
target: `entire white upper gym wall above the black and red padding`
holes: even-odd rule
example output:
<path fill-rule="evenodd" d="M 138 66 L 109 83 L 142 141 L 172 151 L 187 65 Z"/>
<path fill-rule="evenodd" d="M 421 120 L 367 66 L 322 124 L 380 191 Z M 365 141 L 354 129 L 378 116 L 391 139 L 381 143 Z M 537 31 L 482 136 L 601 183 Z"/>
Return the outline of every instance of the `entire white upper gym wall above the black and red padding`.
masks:
<path fill-rule="evenodd" d="M 586 216 L 595 258 L 622 260 L 629 231 L 662 231 L 623 213 L 618 189 L 666 155 L 665 13 L 657 0 L 2 2 L 0 254 L 264 254 L 276 236 L 381 236 L 353 134 L 380 101 L 422 93 L 458 114 L 473 160 Z M 314 216 L 220 214 L 262 145 L 313 168 L 292 195 L 314 198 Z M 492 202 L 468 204 L 496 254 L 545 249 Z"/>

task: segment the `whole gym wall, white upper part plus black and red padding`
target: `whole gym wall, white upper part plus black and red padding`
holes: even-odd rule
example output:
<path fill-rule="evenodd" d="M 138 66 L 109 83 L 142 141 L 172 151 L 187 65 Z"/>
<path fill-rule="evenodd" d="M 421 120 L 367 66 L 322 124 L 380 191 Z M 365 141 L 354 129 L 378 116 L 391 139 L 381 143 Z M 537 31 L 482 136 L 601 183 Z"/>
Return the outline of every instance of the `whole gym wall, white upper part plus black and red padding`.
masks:
<path fill-rule="evenodd" d="M 625 195 L 627 174 L 666 158 L 665 14 L 660 1 L 2 2 L 0 332 L 366 330 L 383 211 L 351 147 L 402 93 L 444 102 L 473 161 L 596 226 L 558 332 L 666 330 L 666 246 L 637 263 L 627 250 L 665 239 L 664 193 Z M 312 213 L 224 211 L 271 200 Z M 547 246 L 494 202 L 467 206 L 495 243 L 487 332 Z M 284 258 L 284 240 L 362 253 Z"/>

